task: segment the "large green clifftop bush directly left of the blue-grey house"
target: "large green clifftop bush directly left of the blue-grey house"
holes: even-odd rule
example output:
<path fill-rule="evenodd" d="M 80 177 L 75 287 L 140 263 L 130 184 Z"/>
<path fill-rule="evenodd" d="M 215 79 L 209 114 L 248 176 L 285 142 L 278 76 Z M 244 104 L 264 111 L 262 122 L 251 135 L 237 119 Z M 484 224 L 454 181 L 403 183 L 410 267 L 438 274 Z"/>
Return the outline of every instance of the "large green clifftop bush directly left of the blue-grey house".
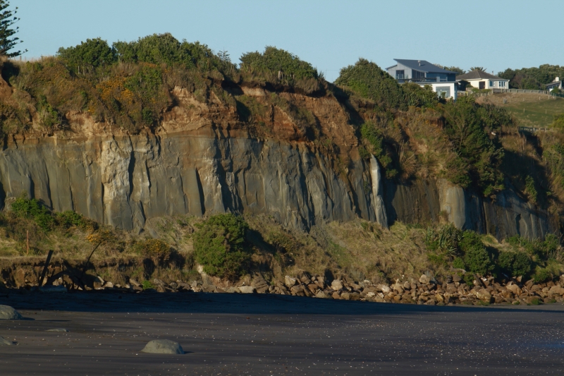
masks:
<path fill-rule="evenodd" d="M 405 97 L 396 80 L 372 61 L 359 59 L 341 69 L 336 85 L 349 87 L 383 109 L 405 107 Z"/>

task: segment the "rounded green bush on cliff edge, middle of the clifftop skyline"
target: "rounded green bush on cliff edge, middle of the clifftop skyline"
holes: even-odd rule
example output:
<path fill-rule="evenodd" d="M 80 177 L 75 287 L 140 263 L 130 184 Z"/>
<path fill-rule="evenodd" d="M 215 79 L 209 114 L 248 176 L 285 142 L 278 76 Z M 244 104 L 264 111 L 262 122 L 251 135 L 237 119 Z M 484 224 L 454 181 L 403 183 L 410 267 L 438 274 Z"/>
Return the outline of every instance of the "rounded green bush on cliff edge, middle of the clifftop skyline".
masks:
<path fill-rule="evenodd" d="M 300 80 L 304 78 L 319 78 L 317 69 L 307 61 L 302 61 L 298 56 L 276 47 L 266 46 L 264 52 L 247 52 L 240 57 L 241 69 L 256 72 L 281 71 L 288 80 Z"/>

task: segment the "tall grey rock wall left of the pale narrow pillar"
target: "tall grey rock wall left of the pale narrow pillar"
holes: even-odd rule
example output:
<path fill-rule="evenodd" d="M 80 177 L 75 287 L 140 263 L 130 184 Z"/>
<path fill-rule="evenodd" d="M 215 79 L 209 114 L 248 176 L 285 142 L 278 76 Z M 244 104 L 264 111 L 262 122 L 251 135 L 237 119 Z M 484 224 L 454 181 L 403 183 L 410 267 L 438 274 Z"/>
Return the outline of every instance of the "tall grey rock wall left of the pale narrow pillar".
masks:
<path fill-rule="evenodd" d="M 374 221 L 362 161 L 349 168 L 348 181 L 303 143 L 231 138 L 210 130 L 46 138 L 2 150 L 0 195 L 25 192 L 54 210 L 75 210 L 135 231 L 152 217 L 227 211 L 268 213 L 295 229 L 356 217 Z"/>

